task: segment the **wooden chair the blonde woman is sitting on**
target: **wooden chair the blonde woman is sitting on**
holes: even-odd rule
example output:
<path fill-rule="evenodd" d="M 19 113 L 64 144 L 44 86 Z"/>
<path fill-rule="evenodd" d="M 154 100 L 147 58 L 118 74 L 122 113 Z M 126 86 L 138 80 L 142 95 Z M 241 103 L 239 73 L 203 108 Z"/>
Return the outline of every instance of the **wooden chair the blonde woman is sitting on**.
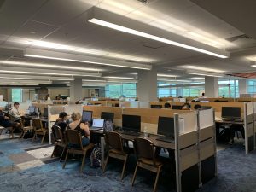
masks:
<path fill-rule="evenodd" d="M 67 154 L 66 154 L 65 162 L 62 168 L 64 169 L 66 166 L 68 154 L 83 154 L 82 165 L 80 168 L 80 172 L 82 172 L 84 168 L 86 153 L 89 149 L 94 148 L 94 144 L 90 143 L 87 146 L 83 146 L 81 133 L 79 131 L 67 130 L 65 133 L 66 133 L 66 141 L 67 141 Z"/>

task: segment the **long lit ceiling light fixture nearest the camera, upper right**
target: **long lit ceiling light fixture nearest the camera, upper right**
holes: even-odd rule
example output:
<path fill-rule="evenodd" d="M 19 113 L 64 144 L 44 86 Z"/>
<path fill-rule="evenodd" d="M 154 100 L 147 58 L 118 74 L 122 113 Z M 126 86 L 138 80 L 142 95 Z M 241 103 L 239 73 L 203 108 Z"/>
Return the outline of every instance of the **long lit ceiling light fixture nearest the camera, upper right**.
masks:
<path fill-rule="evenodd" d="M 106 18 L 108 18 L 108 20 Z M 91 23 L 94 23 L 96 25 L 106 26 L 108 28 L 118 30 L 119 32 L 130 33 L 133 35 L 137 35 L 139 37 L 149 38 L 149 39 L 152 39 L 155 41 L 159 41 L 164 44 L 172 44 L 177 47 L 195 50 L 195 51 L 207 54 L 207 55 L 213 55 L 213 56 L 217 56 L 219 58 L 228 58 L 229 57 L 228 52 L 226 52 L 222 49 L 213 48 L 207 44 L 200 44 L 199 42 L 195 43 L 195 41 L 194 41 L 194 44 L 196 44 L 197 46 L 193 46 L 194 45 L 194 44 L 192 45 L 193 40 L 191 40 L 191 39 L 188 40 L 186 38 L 183 38 L 183 40 L 181 40 L 181 37 L 176 35 L 178 40 L 176 40 L 176 38 L 172 38 L 172 40 L 171 40 L 170 38 L 161 38 L 160 36 L 152 35 L 152 34 L 154 34 L 155 29 L 157 29 L 156 27 L 146 25 L 137 20 L 131 20 L 122 15 L 116 15 L 116 14 L 113 14 L 111 12 L 108 12 L 106 10 L 99 9 L 96 7 L 91 9 L 90 18 L 88 21 Z M 134 24 L 134 26 L 131 26 L 132 24 Z M 131 27 L 128 27 L 129 25 Z M 140 29 L 137 30 L 135 28 L 140 28 Z M 149 34 L 147 32 L 151 32 L 152 34 Z M 163 33 L 165 33 L 165 31 L 160 30 L 160 29 L 158 29 L 158 31 L 155 32 L 155 34 L 161 34 L 161 36 Z M 168 32 L 168 33 L 171 34 L 172 32 Z M 172 37 L 174 37 L 174 36 L 175 35 L 172 33 Z"/>

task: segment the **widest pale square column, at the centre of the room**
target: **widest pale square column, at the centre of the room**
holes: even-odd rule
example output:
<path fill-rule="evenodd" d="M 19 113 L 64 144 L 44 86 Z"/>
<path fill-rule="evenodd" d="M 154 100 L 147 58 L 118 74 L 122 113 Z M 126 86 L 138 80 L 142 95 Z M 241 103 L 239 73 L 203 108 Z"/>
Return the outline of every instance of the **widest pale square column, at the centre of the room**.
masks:
<path fill-rule="evenodd" d="M 157 101 L 157 72 L 140 70 L 137 73 L 137 97 L 140 102 Z"/>

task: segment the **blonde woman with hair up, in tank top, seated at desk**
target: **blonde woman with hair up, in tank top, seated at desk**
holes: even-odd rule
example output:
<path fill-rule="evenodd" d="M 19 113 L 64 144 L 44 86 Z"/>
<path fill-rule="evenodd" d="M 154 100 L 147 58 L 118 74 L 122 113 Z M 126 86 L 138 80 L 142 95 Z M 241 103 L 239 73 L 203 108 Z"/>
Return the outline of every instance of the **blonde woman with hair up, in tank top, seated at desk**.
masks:
<path fill-rule="evenodd" d="M 73 122 L 67 125 L 67 129 L 79 131 L 82 136 L 83 146 L 88 145 L 90 143 L 89 126 L 84 123 L 81 123 L 82 116 L 80 113 L 72 113 L 71 119 L 73 119 Z"/>

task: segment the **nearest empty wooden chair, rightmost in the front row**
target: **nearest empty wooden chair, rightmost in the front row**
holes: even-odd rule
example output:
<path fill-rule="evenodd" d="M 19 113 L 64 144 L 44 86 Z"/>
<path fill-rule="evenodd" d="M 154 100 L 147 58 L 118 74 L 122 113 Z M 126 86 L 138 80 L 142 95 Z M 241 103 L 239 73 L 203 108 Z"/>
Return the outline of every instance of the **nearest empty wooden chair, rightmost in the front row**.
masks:
<path fill-rule="evenodd" d="M 135 154 L 137 155 L 137 165 L 132 177 L 131 185 L 133 186 L 134 184 L 135 177 L 137 175 L 137 168 L 142 167 L 143 169 L 147 169 L 151 172 L 157 173 L 154 181 L 153 190 L 155 192 L 157 188 L 158 179 L 160 176 L 161 167 L 163 166 L 163 164 L 159 160 L 156 160 L 154 156 L 154 144 L 148 139 L 138 137 L 134 139 L 133 146 Z"/>

